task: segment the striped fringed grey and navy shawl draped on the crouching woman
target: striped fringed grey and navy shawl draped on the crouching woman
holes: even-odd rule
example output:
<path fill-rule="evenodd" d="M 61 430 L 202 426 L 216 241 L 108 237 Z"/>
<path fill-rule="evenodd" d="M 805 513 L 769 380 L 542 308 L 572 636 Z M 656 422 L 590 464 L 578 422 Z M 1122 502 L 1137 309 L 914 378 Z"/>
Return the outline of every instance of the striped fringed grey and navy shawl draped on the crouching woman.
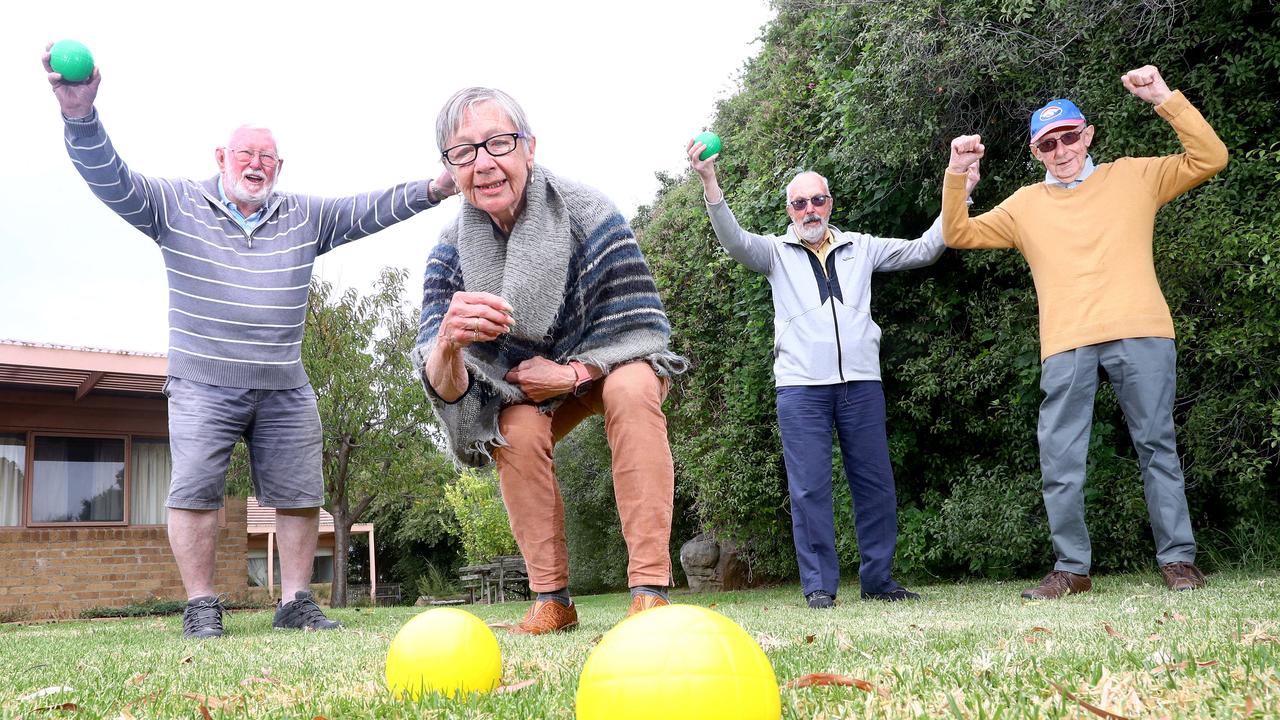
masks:
<path fill-rule="evenodd" d="M 687 368 L 667 348 L 671 325 L 658 287 L 617 208 L 599 191 L 541 167 L 530 176 L 525 201 L 509 238 L 494 232 L 486 213 L 463 204 L 426 263 L 412 354 L 420 377 L 454 292 L 490 292 L 515 309 L 509 334 L 463 351 L 471 386 L 456 402 L 440 400 L 424 377 L 465 465 L 484 465 L 494 446 L 506 445 L 498 413 L 529 398 L 503 377 L 535 355 L 580 360 L 605 373 L 631 360 L 649 361 L 662 377 Z"/>

